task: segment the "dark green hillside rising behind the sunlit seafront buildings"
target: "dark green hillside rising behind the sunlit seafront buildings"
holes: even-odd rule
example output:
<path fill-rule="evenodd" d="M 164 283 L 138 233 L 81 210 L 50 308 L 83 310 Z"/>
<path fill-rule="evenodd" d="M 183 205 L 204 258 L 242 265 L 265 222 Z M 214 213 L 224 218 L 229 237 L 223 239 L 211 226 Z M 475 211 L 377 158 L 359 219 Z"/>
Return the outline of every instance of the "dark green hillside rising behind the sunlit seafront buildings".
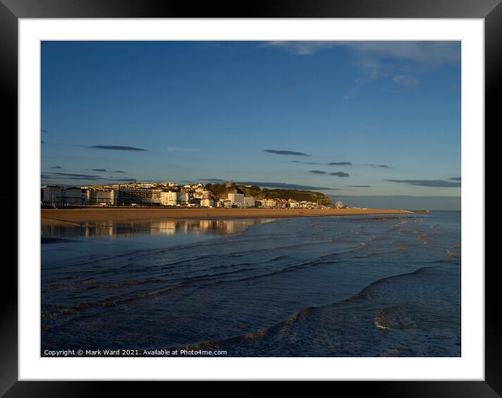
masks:
<path fill-rule="evenodd" d="M 262 190 L 257 185 L 236 185 L 235 183 L 208 184 L 205 185 L 205 188 L 212 193 L 215 199 L 223 199 L 226 198 L 228 194 L 238 193 L 254 197 L 255 199 L 294 199 L 296 201 L 313 201 L 324 206 L 332 204 L 329 197 L 315 191 L 268 188 Z"/>

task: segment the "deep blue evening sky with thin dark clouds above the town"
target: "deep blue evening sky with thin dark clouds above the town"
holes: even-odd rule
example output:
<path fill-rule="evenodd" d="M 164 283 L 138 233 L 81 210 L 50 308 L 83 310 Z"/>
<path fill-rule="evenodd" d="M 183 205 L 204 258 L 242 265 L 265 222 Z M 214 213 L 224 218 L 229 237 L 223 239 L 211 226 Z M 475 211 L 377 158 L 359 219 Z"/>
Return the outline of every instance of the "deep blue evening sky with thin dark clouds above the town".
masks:
<path fill-rule="evenodd" d="M 460 197 L 459 42 L 43 41 L 41 58 L 42 183 Z"/>

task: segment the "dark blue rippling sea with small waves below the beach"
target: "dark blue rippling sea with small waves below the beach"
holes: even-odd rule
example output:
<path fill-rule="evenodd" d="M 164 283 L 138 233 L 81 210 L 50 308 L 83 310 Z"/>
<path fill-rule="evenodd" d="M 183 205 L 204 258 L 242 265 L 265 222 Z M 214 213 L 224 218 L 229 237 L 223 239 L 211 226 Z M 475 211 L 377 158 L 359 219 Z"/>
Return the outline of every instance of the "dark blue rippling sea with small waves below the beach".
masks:
<path fill-rule="evenodd" d="M 42 225 L 51 350 L 460 357 L 461 212 Z"/>

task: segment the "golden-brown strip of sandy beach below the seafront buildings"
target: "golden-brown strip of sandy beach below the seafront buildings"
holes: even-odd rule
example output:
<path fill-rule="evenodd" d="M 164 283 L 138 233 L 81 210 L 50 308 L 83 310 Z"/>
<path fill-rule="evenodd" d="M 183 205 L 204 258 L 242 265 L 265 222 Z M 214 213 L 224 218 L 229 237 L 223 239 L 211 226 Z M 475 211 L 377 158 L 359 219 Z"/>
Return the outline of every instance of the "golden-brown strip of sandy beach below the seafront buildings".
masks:
<path fill-rule="evenodd" d="M 371 208 L 58 208 L 41 209 L 41 225 L 80 226 L 89 221 L 130 222 L 161 219 L 295 218 L 341 215 L 414 214 L 409 210 Z"/>

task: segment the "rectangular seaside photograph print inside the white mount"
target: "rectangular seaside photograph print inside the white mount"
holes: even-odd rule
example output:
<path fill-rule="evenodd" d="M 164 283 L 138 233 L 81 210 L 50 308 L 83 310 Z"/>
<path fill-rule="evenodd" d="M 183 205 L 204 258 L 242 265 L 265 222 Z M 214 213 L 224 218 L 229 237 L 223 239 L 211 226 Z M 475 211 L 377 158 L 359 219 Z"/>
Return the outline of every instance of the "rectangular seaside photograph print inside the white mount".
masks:
<path fill-rule="evenodd" d="M 461 41 L 41 41 L 41 357 L 461 357 Z"/>

